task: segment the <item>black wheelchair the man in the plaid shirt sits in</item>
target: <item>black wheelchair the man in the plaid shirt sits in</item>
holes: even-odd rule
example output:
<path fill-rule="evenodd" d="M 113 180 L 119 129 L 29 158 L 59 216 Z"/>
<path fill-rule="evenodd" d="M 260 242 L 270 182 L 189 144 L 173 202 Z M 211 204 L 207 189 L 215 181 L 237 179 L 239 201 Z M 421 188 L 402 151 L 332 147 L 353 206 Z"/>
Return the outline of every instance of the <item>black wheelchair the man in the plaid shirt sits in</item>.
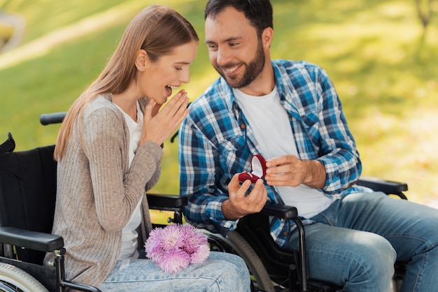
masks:
<path fill-rule="evenodd" d="M 358 184 L 373 191 L 382 191 L 388 196 L 407 200 L 404 191 L 407 184 L 362 177 Z M 269 232 L 269 217 L 292 219 L 299 231 L 299 250 L 287 251 L 274 242 Z M 248 265 L 256 289 L 269 292 L 337 292 L 342 287 L 309 279 L 306 263 L 305 231 L 297 214 L 297 208 L 268 202 L 259 213 L 239 220 L 234 231 L 224 238 L 220 234 L 208 233 L 212 249 L 238 254 Z M 395 263 L 390 292 L 400 291 L 407 263 Z M 388 292 L 388 291 L 384 291 Z"/>

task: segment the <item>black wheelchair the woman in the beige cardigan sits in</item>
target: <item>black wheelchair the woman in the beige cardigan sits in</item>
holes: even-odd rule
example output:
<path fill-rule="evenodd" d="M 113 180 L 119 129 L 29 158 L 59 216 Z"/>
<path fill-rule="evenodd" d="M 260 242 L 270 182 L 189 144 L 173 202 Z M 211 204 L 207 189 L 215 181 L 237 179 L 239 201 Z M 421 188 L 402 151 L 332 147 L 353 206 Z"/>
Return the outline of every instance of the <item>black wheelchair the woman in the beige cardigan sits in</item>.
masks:
<path fill-rule="evenodd" d="M 55 145 L 22 152 L 13 152 L 14 148 L 9 133 L 0 145 L 0 291 L 100 291 L 65 279 L 64 240 L 50 234 L 56 198 Z M 174 212 L 169 223 L 183 223 L 187 198 L 146 196 L 150 209 Z M 42 265 L 46 252 L 55 254 L 52 267 Z"/>

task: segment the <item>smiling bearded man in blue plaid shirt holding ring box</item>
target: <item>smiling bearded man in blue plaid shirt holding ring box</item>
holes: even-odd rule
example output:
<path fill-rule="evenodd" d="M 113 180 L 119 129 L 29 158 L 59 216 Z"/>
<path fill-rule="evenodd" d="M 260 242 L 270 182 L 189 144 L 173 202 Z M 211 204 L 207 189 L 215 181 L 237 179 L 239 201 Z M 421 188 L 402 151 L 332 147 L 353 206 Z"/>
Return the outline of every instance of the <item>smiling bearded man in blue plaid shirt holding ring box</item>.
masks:
<path fill-rule="evenodd" d="M 179 132 L 185 218 L 222 234 L 267 200 L 294 205 L 306 224 L 309 277 L 344 291 L 388 291 L 408 261 L 402 291 L 437 291 L 438 211 L 355 186 L 362 166 L 337 92 L 305 61 L 271 60 L 269 0 L 210 0 L 205 43 L 221 77 L 190 105 Z M 264 180 L 241 185 L 250 159 Z M 271 235 L 297 249 L 291 221 Z"/>

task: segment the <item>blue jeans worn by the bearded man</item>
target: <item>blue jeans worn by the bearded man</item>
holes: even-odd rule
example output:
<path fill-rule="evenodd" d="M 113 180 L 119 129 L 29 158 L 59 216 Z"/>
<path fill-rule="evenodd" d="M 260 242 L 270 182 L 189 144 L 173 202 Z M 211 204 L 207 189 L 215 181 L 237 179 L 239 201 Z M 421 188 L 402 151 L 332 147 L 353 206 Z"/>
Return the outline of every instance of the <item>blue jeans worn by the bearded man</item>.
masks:
<path fill-rule="evenodd" d="M 438 210 L 383 193 L 350 194 L 305 226 L 309 277 L 344 291 L 388 291 L 407 261 L 402 292 L 438 291 Z M 285 243 L 298 248 L 298 232 Z"/>

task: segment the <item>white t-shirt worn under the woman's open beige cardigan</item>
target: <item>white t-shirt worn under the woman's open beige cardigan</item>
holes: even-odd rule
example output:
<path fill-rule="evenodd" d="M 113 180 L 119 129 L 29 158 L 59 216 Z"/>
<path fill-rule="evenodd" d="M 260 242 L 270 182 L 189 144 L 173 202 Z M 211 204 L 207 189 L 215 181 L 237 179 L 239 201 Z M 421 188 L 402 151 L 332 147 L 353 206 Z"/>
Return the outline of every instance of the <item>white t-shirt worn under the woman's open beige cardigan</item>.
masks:
<path fill-rule="evenodd" d="M 137 120 L 134 121 L 134 119 L 129 117 L 129 115 L 127 115 L 122 108 L 120 108 L 118 105 L 117 107 L 123 112 L 129 129 L 129 167 L 131 167 L 131 163 L 134 159 L 135 152 L 139 147 L 141 133 L 143 131 L 143 112 L 141 112 L 139 102 L 137 102 Z M 139 234 L 136 232 L 136 228 L 141 224 L 140 206 L 142 198 L 140 198 L 139 203 L 137 203 L 128 223 L 122 229 L 122 247 L 120 248 L 120 254 L 118 258 L 119 261 L 139 258 L 139 251 L 137 251 L 137 238 L 139 237 Z"/>

